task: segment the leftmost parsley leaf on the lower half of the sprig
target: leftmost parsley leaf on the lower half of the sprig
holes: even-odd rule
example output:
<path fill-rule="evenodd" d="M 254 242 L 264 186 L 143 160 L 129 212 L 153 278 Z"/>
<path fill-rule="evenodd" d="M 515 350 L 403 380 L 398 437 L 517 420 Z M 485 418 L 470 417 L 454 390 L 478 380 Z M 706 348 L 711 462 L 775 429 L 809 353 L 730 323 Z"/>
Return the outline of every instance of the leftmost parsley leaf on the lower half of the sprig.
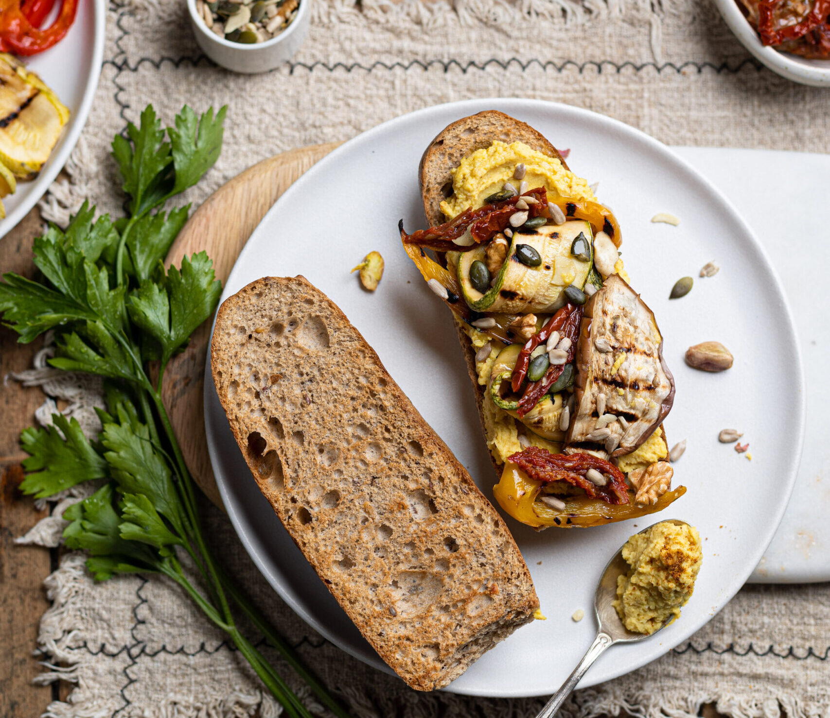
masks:
<path fill-rule="evenodd" d="M 105 478 L 107 463 L 90 444 L 76 419 L 53 414 L 54 426 L 46 429 L 23 429 L 20 442 L 27 454 L 23 468 L 29 473 L 23 480 L 24 493 L 44 498 L 95 478 Z M 63 436 L 61 436 L 63 434 Z"/>

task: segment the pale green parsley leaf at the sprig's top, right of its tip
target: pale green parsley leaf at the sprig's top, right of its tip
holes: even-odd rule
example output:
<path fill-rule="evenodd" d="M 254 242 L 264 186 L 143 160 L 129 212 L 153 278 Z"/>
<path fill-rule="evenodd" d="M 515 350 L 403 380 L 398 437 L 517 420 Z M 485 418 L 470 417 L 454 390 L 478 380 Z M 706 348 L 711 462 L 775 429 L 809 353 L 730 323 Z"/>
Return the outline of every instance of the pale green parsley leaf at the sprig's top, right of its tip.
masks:
<path fill-rule="evenodd" d="M 167 130 L 176 168 L 173 194 L 193 187 L 216 163 L 222 150 L 222 123 L 226 112 L 227 106 L 222 107 L 214 117 L 213 108 L 210 108 L 197 121 L 193 110 L 184 105 L 181 113 L 176 115 L 176 128 Z"/>

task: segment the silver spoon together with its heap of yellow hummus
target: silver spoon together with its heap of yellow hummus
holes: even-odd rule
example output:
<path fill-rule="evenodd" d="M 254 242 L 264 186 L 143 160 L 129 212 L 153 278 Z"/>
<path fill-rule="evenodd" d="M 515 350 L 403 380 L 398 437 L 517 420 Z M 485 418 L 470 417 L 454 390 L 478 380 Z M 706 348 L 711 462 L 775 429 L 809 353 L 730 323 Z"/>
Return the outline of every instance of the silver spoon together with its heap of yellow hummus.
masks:
<path fill-rule="evenodd" d="M 620 547 L 603 570 L 594 597 L 597 638 L 536 718 L 551 718 L 607 648 L 650 638 L 680 618 L 701 569 L 694 526 L 668 519 L 644 528 Z"/>

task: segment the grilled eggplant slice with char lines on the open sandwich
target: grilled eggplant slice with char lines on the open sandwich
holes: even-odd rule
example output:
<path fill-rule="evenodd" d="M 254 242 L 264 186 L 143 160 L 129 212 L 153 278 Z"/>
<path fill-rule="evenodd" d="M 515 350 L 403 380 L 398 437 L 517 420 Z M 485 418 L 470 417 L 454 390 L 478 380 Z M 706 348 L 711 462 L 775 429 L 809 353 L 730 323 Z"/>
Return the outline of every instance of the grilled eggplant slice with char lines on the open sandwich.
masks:
<path fill-rule="evenodd" d="M 566 439 L 570 447 L 602 446 L 608 440 L 604 431 L 596 431 L 601 394 L 604 413 L 623 416 L 627 424 L 608 424 L 611 443 L 617 443 L 611 456 L 630 454 L 654 433 L 675 393 L 662 347 L 652 310 L 612 274 L 585 305 L 576 353 L 576 404 Z"/>

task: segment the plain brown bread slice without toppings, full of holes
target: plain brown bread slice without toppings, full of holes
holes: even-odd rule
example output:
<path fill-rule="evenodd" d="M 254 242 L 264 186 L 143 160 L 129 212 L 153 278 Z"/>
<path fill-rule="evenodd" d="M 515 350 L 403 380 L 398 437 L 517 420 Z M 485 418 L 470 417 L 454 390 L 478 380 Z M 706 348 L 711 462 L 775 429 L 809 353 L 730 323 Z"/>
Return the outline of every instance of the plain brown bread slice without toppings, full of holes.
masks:
<path fill-rule="evenodd" d="M 305 278 L 227 298 L 211 367 L 261 492 L 409 686 L 447 686 L 532 620 L 539 599 L 505 522 Z"/>

